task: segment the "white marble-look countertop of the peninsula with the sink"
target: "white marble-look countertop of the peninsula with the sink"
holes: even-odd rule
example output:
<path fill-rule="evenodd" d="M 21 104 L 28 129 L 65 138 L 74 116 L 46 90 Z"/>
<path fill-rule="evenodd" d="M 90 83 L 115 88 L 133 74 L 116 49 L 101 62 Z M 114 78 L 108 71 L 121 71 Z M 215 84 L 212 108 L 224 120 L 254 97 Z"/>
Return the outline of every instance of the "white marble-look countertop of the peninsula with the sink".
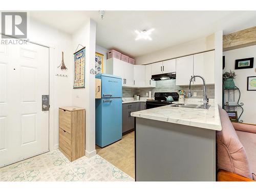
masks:
<path fill-rule="evenodd" d="M 158 108 L 133 112 L 133 117 L 141 117 L 157 121 L 177 123 L 203 129 L 221 131 L 221 121 L 217 103 L 210 103 L 210 108 L 193 109 L 177 108 L 171 105 L 160 106 Z"/>

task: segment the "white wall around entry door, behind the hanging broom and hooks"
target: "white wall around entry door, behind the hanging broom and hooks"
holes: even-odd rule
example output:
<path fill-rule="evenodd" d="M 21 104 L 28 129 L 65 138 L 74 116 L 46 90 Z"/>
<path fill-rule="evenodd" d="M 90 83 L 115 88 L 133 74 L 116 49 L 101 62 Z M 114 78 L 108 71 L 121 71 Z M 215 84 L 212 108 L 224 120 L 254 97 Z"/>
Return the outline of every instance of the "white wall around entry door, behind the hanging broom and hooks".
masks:
<path fill-rule="evenodd" d="M 50 78 L 53 80 L 50 94 L 54 96 L 53 98 L 50 97 L 50 103 L 52 103 L 50 109 L 53 108 L 54 115 L 54 119 L 50 118 L 50 121 L 54 124 L 53 130 L 50 127 L 50 142 L 54 145 L 53 147 L 50 145 L 50 150 L 55 150 L 58 148 L 58 108 L 59 106 L 69 106 L 72 101 L 73 49 L 71 35 L 29 18 L 28 39 L 50 47 Z M 64 52 L 67 71 L 57 68 L 61 62 L 61 51 Z M 57 77 L 55 76 L 56 73 L 66 74 L 68 77 Z M 53 138 L 51 138 L 52 132 L 54 133 Z"/>

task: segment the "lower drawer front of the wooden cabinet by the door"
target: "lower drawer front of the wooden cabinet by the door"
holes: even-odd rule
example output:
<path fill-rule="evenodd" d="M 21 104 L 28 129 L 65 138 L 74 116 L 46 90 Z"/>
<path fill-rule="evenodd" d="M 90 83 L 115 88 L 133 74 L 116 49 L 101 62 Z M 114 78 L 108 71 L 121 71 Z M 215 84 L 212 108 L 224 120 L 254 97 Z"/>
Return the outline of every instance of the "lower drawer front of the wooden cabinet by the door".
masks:
<path fill-rule="evenodd" d="M 59 147 L 71 156 L 71 134 L 59 128 Z"/>

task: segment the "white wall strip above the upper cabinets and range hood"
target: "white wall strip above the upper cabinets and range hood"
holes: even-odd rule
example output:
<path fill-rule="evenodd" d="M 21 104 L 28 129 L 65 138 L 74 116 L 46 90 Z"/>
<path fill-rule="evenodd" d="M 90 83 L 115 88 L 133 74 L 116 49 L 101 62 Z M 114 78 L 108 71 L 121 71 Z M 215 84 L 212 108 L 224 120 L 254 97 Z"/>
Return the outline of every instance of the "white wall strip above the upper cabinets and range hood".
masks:
<path fill-rule="evenodd" d="M 175 37 L 174 37 L 175 38 Z M 177 46 L 169 47 L 163 50 L 155 51 L 150 54 L 142 55 L 135 58 L 136 65 L 145 65 L 161 60 L 191 55 L 203 51 L 215 49 L 215 36 L 210 35 L 204 38 L 185 42 Z"/>

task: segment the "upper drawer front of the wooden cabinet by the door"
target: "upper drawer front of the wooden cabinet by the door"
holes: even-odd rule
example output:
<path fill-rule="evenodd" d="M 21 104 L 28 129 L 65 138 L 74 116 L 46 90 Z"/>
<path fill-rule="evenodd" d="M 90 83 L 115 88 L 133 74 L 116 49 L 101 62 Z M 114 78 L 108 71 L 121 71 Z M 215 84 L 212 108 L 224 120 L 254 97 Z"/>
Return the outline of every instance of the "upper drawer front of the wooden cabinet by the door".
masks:
<path fill-rule="evenodd" d="M 59 127 L 71 134 L 71 112 L 59 109 Z"/>

